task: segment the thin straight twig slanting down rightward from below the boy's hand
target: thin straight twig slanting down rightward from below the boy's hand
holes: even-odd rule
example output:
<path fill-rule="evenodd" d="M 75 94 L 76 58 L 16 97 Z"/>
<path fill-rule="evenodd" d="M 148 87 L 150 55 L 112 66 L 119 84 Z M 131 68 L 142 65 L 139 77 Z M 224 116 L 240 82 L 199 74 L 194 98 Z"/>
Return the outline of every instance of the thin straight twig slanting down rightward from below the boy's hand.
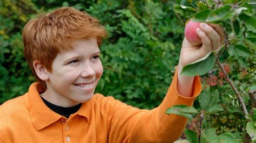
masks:
<path fill-rule="evenodd" d="M 242 105 L 242 109 L 244 110 L 245 115 L 248 115 L 248 111 L 247 111 L 247 109 L 246 109 L 246 106 L 245 106 L 244 101 L 242 100 L 241 95 L 239 94 L 237 88 L 235 88 L 234 84 L 233 84 L 232 81 L 230 80 L 230 77 L 227 75 L 227 72 L 225 71 L 223 65 L 221 65 L 220 60 L 219 60 L 218 58 L 216 59 L 216 63 L 217 63 L 217 65 L 220 67 L 221 71 L 225 74 L 226 81 L 227 81 L 228 83 L 230 83 L 232 89 L 234 90 L 235 94 L 237 95 L 237 97 L 238 97 L 238 99 L 239 99 L 239 101 L 240 101 L 240 103 L 241 103 L 241 105 Z"/>

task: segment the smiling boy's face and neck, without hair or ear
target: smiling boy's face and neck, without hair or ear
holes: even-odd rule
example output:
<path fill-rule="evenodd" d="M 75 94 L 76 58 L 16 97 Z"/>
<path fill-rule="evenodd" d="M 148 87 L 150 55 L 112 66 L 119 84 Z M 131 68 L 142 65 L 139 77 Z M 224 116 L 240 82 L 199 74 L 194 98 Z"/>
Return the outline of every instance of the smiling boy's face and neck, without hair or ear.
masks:
<path fill-rule="evenodd" d="M 103 74 L 96 38 L 74 42 L 75 48 L 58 53 L 42 96 L 49 102 L 69 107 L 89 101 Z"/>

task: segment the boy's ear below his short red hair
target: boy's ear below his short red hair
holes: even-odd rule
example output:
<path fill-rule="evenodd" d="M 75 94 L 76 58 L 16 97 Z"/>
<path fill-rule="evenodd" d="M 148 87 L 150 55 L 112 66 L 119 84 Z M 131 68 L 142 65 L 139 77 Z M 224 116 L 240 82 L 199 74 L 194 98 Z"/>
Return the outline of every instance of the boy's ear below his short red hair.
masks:
<path fill-rule="evenodd" d="M 40 63 L 39 60 L 33 61 L 33 68 L 36 71 L 37 76 L 42 80 L 49 80 L 49 71 Z"/>

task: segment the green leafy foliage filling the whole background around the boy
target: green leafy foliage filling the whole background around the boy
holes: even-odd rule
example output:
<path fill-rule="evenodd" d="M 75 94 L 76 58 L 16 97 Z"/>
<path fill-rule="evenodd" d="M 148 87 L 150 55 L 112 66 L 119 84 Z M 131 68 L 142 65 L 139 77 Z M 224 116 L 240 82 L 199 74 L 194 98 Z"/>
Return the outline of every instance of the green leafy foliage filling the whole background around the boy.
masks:
<path fill-rule="evenodd" d="M 229 33 L 230 47 L 223 53 L 220 60 L 225 64 L 225 70 L 231 76 L 235 87 L 238 87 L 250 109 L 251 101 L 247 91 L 256 83 L 256 34 L 255 11 L 253 11 L 256 9 L 255 6 L 240 3 L 237 7 L 230 7 L 231 2 L 237 1 L 224 1 L 227 6 L 220 8 L 223 9 L 220 12 L 213 12 L 215 3 L 211 0 L 192 2 L 185 0 L 175 2 L 152 0 L 0 1 L 0 77 L 2 77 L 0 104 L 23 95 L 28 91 L 29 85 L 36 81 L 23 56 L 21 31 L 25 23 L 38 13 L 49 12 L 61 6 L 73 6 L 100 19 L 109 33 L 109 38 L 105 39 L 100 47 L 104 74 L 96 92 L 105 96 L 114 96 L 138 108 L 152 109 L 159 105 L 170 85 L 179 60 L 180 44 L 184 37 L 184 23 L 187 20 L 182 16 L 194 16 L 198 21 L 223 23 L 225 31 Z M 179 12 L 179 15 L 174 10 Z M 202 141 L 207 139 L 208 132 L 213 131 L 217 133 L 218 138 L 235 136 L 224 133 L 226 131 L 253 131 L 251 123 L 248 129 L 246 128 L 246 119 L 242 118 L 244 115 L 241 113 L 238 98 L 227 85 L 224 73 L 217 66 L 201 76 L 201 81 L 204 92 L 194 103 L 194 109 L 199 112 L 206 111 L 203 120 L 204 128 L 215 128 L 204 130 L 205 135 L 202 135 Z M 197 114 L 193 117 L 200 118 Z M 234 124 L 224 127 L 222 125 L 225 123 L 222 120 L 233 120 Z M 240 121 L 242 123 L 239 123 Z M 238 126 L 239 124 L 241 126 Z M 193 135 L 190 138 L 198 141 Z M 235 138 L 238 139 L 237 136 Z"/>

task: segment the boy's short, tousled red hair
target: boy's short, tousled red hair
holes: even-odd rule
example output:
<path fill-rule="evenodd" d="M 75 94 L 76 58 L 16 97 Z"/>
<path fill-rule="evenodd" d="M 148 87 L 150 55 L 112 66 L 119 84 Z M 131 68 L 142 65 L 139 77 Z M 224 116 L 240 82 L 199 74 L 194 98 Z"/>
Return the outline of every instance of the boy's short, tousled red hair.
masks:
<path fill-rule="evenodd" d="M 98 19 L 69 7 L 59 8 L 30 20 L 22 32 L 25 58 L 44 90 L 46 84 L 37 76 L 33 61 L 38 60 L 51 72 L 52 62 L 57 54 L 72 49 L 72 42 L 96 38 L 99 46 L 105 37 L 107 32 Z"/>

